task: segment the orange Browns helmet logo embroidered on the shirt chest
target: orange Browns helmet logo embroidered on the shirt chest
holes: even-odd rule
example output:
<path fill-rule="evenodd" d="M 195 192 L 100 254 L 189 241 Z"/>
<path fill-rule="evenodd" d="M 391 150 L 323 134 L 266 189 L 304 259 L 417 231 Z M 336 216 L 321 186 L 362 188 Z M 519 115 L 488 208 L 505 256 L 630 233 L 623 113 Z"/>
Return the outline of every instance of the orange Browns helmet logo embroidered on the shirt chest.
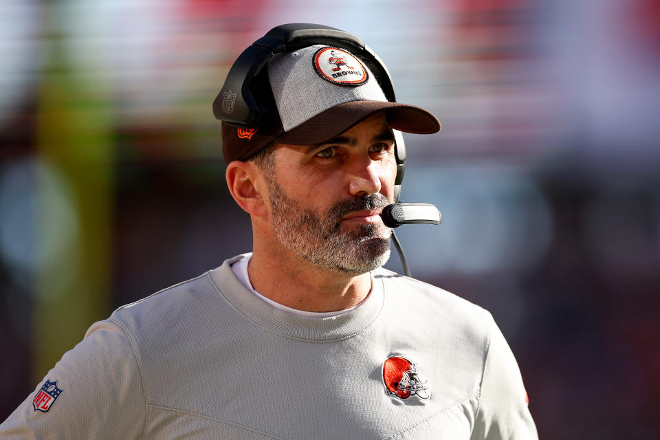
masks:
<path fill-rule="evenodd" d="M 417 396 L 428 399 L 428 382 L 417 371 L 417 366 L 402 355 L 393 355 L 383 362 L 385 392 L 392 397 L 408 399 Z"/>

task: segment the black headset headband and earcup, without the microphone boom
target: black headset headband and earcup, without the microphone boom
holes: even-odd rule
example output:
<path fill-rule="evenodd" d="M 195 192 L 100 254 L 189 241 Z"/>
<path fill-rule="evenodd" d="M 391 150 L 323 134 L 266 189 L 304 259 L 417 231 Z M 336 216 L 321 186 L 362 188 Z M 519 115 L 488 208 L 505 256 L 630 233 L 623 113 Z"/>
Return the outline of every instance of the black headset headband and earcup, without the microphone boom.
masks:
<path fill-rule="evenodd" d="M 358 56 L 375 76 L 387 100 L 396 102 L 390 72 L 373 50 L 357 36 L 325 25 L 288 23 L 272 28 L 239 55 L 213 102 L 215 117 L 232 126 L 258 127 L 274 111 L 270 83 L 265 78 L 264 69 L 270 58 L 274 54 L 292 52 L 315 44 L 340 47 Z M 233 108 L 223 108 L 223 100 L 226 101 L 226 98 L 233 98 Z M 397 159 L 395 201 L 399 201 L 406 168 L 406 147 L 401 132 L 395 130 L 394 133 Z"/>

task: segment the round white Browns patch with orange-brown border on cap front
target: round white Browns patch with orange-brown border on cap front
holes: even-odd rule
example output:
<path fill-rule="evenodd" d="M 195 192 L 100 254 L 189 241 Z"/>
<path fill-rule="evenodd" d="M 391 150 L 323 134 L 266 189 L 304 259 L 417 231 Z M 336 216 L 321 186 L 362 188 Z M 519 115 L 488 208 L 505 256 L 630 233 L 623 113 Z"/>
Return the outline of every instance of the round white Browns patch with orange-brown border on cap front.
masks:
<path fill-rule="evenodd" d="M 369 80 L 360 60 L 338 47 L 321 47 L 316 51 L 314 68 L 321 78 L 340 85 L 358 86 Z"/>

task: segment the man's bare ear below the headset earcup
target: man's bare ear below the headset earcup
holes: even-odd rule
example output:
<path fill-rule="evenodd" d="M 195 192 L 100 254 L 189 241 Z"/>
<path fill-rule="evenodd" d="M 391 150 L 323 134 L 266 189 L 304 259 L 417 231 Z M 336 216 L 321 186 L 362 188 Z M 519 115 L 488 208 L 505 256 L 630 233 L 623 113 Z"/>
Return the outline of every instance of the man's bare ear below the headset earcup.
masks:
<path fill-rule="evenodd" d="M 234 160 L 228 164 L 225 177 L 229 192 L 245 212 L 257 217 L 267 214 L 263 194 L 266 186 L 255 164 Z"/>

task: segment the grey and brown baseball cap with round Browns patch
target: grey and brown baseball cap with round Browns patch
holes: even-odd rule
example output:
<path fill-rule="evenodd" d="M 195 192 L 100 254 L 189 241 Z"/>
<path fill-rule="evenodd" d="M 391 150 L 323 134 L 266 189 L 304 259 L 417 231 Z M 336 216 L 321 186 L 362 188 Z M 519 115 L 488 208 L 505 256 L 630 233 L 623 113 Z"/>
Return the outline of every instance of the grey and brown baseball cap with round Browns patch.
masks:
<path fill-rule="evenodd" d="M 393 129 L 406 133 L 430 134 L 441 128 L 421 107 L 388 102 L 378 78 L 348 50 L 311 45 L 275 54 L 267 70 L 276 111 L 255 128 L 222 122 L 225 163 L 248 160 L 272 142 L 326 142 L 380 112 Z"/>

